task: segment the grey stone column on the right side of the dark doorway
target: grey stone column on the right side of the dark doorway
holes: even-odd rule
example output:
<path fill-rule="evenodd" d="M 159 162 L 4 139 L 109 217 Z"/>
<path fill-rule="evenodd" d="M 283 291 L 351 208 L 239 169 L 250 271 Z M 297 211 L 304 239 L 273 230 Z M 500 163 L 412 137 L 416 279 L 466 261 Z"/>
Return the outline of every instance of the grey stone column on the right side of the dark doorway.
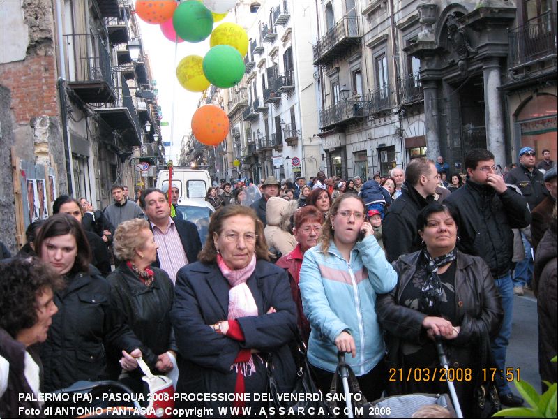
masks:
<path fill-rule="evenodd" d="M 494 154 L 495 163 L 504 167 L 506 164 L 506 138 L 502 97 L 498 90 L 502 84 L 498 57 L 483 59 L 483 76 L 486 147 Z"/>

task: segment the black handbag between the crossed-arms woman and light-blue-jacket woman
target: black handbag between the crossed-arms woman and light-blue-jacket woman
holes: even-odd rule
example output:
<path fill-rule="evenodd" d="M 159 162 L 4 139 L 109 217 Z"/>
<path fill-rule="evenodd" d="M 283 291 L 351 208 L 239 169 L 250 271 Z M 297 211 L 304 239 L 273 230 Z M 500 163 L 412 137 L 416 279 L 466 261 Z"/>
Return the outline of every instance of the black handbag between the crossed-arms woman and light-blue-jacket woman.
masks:
<path fill-rule="evenodd" d="M 285 418 L 289 416 L 289 410 L 292 409 L 291 412 L 294 412 L 295 415 L 301 411 L 305 413 L 304 416 L 335 418 L 329 409 L 329 405 L 324 402 L 322 392 L 320 392 L 314 381 L 310 365 L 308 365 L 308 358 L 306 357 L 306 344 L 304 344 L 299 332 L 296 332 L 296 344 L 296 381 L 292 389 L 292 394 L 312 395 L 312 397 L 301 397 L 301 399 L 293 397 L 293 399 L 285 399 L 283 395 L 279 395 L 278 385 L 275 378 L 273 378 L 273 357 L 271 353 L 269 353 L 266 362 L 269 380 L 268 392 L 271 395 L 268 416 Z"/>

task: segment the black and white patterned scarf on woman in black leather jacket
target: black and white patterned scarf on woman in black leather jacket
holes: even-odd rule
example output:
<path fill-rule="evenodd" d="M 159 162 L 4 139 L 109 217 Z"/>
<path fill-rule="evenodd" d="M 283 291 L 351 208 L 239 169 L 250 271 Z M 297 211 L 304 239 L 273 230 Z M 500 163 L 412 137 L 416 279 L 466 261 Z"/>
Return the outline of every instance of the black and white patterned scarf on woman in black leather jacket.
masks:
<path fill-rule="evenodd" d="M 423 250 L 426 265 L 417 268 L 416 274 L 422 279 L 421 286 L 421 311 L 425 314 L 437 314 L 438 303 L 442 299 L 442 282 L 438 276 L 438 268 L 450 263 L 457 258 L 457 251 L 453 249 L 445 255 L 432 258 L 428 250 Z"/>

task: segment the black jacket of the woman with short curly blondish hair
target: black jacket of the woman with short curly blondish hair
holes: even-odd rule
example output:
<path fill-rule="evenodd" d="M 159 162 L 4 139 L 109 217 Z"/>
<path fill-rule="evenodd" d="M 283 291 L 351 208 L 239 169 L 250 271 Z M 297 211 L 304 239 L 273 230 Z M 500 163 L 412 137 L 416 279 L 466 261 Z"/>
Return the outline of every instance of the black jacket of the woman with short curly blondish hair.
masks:
<path fill-rule="evenodd" d="M 174 300 L 174 286 L 164 270 L 151 268 L 155 280 L 146 287 L 137 275 L 122 263 L 107 277 L 110 282 L 112 298 L 119 308 L 123 321 L 130 326 L 134 335 L 144 344 L 144 360 L 153 374 L 158 355 L 169 350 L 176 351 L 174 331 L 170 323 L 170 309 Z M 112 366 L 119 367 L 116 363 Z M 137 371 L 140 377 L 143 375 Z M 116 374 L 116 377 L 118 374 Z"/>

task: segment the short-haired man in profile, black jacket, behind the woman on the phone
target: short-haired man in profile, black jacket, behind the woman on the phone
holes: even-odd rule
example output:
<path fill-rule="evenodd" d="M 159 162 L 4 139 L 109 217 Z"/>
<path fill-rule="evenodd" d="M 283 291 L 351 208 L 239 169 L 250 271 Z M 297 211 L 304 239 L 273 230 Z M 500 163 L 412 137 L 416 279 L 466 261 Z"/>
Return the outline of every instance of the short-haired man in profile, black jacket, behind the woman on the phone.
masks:
<path fill-rule="evenodd" d="M 434 202 L 438 172 L 432 160 L 412 159 L 405 172 L 401 196 L 394 200 L 382 221 L 384 249 L 389 262 L 405 253 L 421 249 L 421 237 L 416 217 L 429 203 Z"/>

